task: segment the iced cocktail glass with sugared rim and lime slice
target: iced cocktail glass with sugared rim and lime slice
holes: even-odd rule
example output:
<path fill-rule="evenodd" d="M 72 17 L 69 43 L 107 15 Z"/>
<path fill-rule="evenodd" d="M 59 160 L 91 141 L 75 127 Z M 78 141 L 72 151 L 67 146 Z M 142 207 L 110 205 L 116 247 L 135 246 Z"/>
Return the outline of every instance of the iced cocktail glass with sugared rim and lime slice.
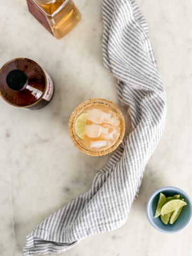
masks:
<path fill-rule="evenodd" d="M 112 102 L 90 99 L 79 105 L 69 119 L 69 134 L 75 146 L 91 156 L 114 151 L 125 134 L 121 111 Z"/>

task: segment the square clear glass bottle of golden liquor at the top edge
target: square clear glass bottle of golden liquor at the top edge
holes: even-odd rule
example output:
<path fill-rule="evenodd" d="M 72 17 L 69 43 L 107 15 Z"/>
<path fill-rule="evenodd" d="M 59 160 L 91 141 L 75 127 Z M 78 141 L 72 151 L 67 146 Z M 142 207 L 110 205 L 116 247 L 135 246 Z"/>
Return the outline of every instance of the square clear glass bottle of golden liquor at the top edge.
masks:
<path fill-rule="evenodd" d="M 81 18 L 73 0 L 27 0 L 31 14 L 60 39 L 73 29 Z"/>

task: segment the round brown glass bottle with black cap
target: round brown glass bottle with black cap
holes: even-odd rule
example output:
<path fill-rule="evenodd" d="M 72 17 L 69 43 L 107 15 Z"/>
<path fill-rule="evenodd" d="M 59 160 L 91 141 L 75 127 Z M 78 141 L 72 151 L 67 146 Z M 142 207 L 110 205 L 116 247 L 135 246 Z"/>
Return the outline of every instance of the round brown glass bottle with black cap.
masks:
<path fill-rule="evenodd" d="M 33 60 L 13 59 L 0 69 L 0 95 L 15 107 L 42 108 L 53 93 L 51 76 Z"/>

